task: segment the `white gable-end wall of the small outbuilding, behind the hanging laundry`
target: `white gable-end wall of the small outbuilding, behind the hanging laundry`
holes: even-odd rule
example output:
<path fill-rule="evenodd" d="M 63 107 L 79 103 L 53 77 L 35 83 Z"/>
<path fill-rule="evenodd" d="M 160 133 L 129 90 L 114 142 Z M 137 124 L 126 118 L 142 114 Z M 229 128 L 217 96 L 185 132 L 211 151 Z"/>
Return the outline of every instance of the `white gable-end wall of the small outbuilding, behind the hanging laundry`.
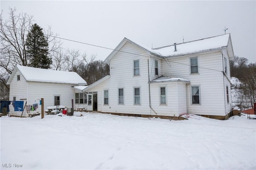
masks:
<path fill-rule="evenodd" d="M 19 81 L 17 81 L 17 75 L 20 75 Z M 10 83 L 9 100 L 12 101 L 13 97 L 16 97 L 16 101 L 21 101 L 20 99 L 27 99 L 27 86 L 28 86 L 28 83 L 26 82 L 26 80 L 24 79 L 20 71 L 17 70 Z M 24 105 L 25 105 L 26 100 L 22 100 L 22 101 L 24 101 Z M 22 112 L 14 111 L 14 107 L 12 107 L 12 105 L 10 105 L 9 107 L 10 107 L 10 112 L 9 112 L 10 115 L 20 116 L 22 114 Z"/>

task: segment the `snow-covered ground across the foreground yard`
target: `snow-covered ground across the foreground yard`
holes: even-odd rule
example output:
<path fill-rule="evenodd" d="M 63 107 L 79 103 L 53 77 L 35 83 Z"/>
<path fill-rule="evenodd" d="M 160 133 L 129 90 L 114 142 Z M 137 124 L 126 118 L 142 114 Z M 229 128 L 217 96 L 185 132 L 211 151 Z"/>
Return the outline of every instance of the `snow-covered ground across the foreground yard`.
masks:
<path fill-rule="evenodd" d="M 0 118 L 0 169 L 256 169 L 256 120 L 246 116 L 170 121 L 83 115 Z"/>

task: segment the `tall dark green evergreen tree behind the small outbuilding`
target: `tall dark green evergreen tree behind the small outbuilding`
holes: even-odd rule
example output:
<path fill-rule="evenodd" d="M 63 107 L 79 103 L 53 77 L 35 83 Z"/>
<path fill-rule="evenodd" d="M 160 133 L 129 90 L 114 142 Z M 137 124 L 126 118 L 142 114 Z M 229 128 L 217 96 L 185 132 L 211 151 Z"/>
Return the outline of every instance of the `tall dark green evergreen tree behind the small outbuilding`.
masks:
<path fill-rule="evenodd" d="M 32 25 L 26 42 L 26 56 L 30 67 L 49 69 L 52 58 L 48 57 L 48 42 L 37 24 Z"/>

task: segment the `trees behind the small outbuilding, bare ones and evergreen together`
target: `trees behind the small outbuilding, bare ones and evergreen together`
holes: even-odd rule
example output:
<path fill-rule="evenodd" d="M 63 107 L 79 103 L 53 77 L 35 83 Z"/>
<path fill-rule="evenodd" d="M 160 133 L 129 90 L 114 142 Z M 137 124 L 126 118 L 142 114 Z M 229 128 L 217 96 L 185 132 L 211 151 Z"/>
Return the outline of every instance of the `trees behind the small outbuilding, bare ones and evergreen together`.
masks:
<path fill-rule="evenodd" d="M 33 16 L 16 14 L 10 8 L 6 20 L 0 13 L 0 99 L 9 99 L 8 78 L 16 65 L 74 71 L 90 85 L 109 74 L 109 66 L 96 55 L 87 56 L 79 49 L 63 49 L 49 27 L 43 30 Z"/>

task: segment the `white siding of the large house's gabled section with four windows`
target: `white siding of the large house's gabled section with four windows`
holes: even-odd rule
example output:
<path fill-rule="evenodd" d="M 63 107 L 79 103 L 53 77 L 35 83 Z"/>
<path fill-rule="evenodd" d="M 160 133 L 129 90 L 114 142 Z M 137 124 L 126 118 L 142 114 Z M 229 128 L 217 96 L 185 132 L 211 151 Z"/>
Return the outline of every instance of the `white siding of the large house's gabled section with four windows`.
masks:
<path fill-rule="evenodd" d="M 145 51 L 127 42 L 110 61 L 111 77 L 89 92 L 97 91 L 98 111 L 107 113 L 150 113 L 148 95 L 148 59 L 140 55 L 149 56 Z M 133 60 L 140 60 L 140 76 L 133 76 Z M 134 105 L 134 87 L 140 87 L 140 105 Z M 118 88 L 124 88 L 124 105 L 118 104 Z M 108 105 L 104 105 L 104 90 L 108 89 Z"/>

